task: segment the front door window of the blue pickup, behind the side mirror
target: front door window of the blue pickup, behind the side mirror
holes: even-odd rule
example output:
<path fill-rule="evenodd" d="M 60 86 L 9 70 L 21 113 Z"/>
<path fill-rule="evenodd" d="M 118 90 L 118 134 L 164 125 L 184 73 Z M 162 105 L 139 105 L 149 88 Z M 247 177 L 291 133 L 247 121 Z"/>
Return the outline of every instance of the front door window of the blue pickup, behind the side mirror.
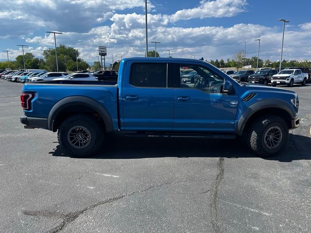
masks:
<path fill-rule="evenodd" d="M 188 74 L 183 74 L 184 67 L 191 71 Z M 224 78 L 207 69 L 207 67 L 180 64 L 179 70 L 181 88 L 200 89 L 207 93 L 221 93 Z"/>

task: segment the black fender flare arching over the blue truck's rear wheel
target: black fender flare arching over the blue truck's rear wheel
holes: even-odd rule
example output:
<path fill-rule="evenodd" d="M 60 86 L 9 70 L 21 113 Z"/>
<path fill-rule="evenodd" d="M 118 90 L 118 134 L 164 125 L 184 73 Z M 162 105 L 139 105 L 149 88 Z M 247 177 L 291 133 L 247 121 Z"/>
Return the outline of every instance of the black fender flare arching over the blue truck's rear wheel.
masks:
<path fill-rule="evenodd" d="M 111 116 L 104 106 L 96 100 L 83 96 L 70 96 L 58 101 L 48 116 L 49 130 L 56 132 L 63 119 L 79 113 L 98 116 L 103 121 L 105 132 L 113 131 Z"/>

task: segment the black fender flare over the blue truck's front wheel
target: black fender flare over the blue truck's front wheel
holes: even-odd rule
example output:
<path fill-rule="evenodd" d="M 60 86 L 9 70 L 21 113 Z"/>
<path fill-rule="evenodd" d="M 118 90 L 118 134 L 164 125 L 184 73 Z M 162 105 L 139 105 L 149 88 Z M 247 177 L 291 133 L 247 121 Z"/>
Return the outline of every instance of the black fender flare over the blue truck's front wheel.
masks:
<path fill-rule="evenodd" d="M 256 102 L 252 105 L 250 105 L 240 116 L 235 133 L 237 133 L 239 136 L 242 135 L 244 127 L 247 123 L 247 121 L 250 119 L 251 116 L 253 116 L 255 113 L 257 113 L 260 110 L 266 109 L 266 108 L 279 108 L 285 110 L 292 119 L 295 118 L 296 112 L 294 109 L 294 106 L 291 106 L 288 102 L 284 100 L 261 100 L 259 102 Z"/>

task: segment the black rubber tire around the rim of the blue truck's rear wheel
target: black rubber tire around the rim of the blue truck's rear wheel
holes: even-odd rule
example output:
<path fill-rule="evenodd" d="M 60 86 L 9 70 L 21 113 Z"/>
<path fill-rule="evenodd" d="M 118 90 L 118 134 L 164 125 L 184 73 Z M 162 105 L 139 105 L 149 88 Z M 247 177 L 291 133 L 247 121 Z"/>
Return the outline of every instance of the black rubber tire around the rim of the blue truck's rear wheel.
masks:
<path fill-rule="evenodd" d="M 68 135 L 70 129 L 75 126 L 86 128 L 90 134 L 90 142 L 85 148 L 75 148 L 70 144 Z M 88 114 L 77 114 L 69 116 L 60 125 L 57 139 L 62 149 L 73 157 L 86 157 L 97 152 L 104 142 L 104 129 L 102 124 L 93 116 Z"/>

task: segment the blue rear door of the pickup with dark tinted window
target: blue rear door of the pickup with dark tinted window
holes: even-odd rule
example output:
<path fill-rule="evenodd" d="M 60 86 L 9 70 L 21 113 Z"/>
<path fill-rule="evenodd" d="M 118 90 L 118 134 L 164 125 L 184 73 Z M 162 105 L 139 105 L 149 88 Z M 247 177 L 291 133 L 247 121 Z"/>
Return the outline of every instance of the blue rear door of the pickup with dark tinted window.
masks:
<path fill-rule="evenodd" d="M 174 90 L 171 69 L 167 62 L 126 62 L 121 94 L 121 127 L 124 131 L 172 132 Z"/>

